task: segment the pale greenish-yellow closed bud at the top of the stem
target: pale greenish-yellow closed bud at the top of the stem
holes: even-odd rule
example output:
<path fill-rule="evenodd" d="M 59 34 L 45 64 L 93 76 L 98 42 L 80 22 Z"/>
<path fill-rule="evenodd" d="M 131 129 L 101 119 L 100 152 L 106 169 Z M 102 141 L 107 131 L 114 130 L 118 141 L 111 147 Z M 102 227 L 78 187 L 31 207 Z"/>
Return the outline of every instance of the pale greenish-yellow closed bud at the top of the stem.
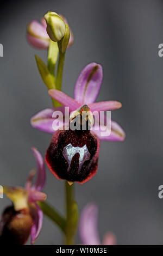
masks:
<path fill-rule="evenodd" d="M 47 23 L 47 33 L 52 41 L 58 42 L 65 35 L 65 22 L 62 18 L 53 11 L 48 11 L 44 16 Z"/>

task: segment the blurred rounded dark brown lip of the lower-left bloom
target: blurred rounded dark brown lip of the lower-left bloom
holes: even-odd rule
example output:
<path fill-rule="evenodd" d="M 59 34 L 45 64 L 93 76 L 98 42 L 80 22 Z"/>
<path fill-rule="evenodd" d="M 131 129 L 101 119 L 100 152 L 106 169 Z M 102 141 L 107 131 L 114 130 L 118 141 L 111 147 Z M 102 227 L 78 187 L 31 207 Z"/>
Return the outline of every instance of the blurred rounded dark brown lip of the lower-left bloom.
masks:
<path fill-rule="evenodd" d="M 29 209 L 15 211 L 14 206 L 4 210 L 0 221 L 0 245 L 24 245 L 33 225 Z"/>

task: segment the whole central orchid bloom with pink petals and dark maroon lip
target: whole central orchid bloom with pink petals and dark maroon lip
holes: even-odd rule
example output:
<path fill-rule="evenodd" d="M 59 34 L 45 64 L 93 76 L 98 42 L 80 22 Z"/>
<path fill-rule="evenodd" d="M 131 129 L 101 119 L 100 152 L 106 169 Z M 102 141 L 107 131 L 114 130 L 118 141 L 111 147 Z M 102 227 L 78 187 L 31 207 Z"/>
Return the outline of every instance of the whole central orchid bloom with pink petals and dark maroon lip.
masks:
<path fill-rule="evenodd" d="M 90 63 L 79 75 L 74 89 L 74 99 L 56 89 L 49 90 L 49 94 L 64 107 L 69 107 L 69 111 L 72 112 L 70 118 L 78 114 L 81 117 L 83 111 L 90 113 L 97 111 L 99 113 L 100 111 L 121 108 L 121 103 L 117 101 L 94 103 L 101 87 L 102 78 L 102 66 Z M 93 125 L 91 131 L 61 131 L 57 129 L 55 131 L 53 112 L 61 111 L 64 113 L 64 107 L 48 108 L 39 112 L 31 119 L 31 124 L 36 129 L 54 133 L 46 153 L 46 163 L 51 172 L 58 179 L 66 179 L 70 183 L 77 181 L 82 184 L 96 174 L 99 139 L 123 141 L 125 133 L 117 123 L 111 121 L 111 133 L 103 137 L 101 132 L 106 118 L 100 126 L 99 124 Z M 65 123 L 61 124 L 61 126 L 64 125 L 67 126 Z"/>

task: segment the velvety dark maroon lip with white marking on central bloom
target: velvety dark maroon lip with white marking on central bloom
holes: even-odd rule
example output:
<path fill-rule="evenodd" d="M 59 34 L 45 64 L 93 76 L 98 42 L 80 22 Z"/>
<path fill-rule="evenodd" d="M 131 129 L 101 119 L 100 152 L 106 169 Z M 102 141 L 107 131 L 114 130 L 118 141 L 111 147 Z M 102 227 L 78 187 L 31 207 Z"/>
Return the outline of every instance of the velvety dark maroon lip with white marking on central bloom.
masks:
<path fill-rule="evenodd" d="M 58 179 L 83 184 L 97 172 L 99 144 L 92 131 L 58 130 L 52 137 L 45 161 Z"/>

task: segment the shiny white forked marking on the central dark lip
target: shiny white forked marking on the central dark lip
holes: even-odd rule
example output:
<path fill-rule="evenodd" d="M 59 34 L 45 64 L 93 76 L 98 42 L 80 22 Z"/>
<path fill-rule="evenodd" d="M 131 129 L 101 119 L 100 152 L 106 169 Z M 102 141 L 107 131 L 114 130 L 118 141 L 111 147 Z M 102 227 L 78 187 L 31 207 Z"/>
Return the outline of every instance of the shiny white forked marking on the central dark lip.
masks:
<path fill-rule="evenodd" d="M 86 145 L 84 145 L 82 148 L 80 147 L 73 147 L 73 145 L 70 143 L 63 149 L 63 155 L 68 163 L 68 169 L 70 170 L 71 161 L 75 154 L 79 154 L 79 171 L 82 169 L 83 163 L 90 159 L 90 153 L 87 149 Z"/>

